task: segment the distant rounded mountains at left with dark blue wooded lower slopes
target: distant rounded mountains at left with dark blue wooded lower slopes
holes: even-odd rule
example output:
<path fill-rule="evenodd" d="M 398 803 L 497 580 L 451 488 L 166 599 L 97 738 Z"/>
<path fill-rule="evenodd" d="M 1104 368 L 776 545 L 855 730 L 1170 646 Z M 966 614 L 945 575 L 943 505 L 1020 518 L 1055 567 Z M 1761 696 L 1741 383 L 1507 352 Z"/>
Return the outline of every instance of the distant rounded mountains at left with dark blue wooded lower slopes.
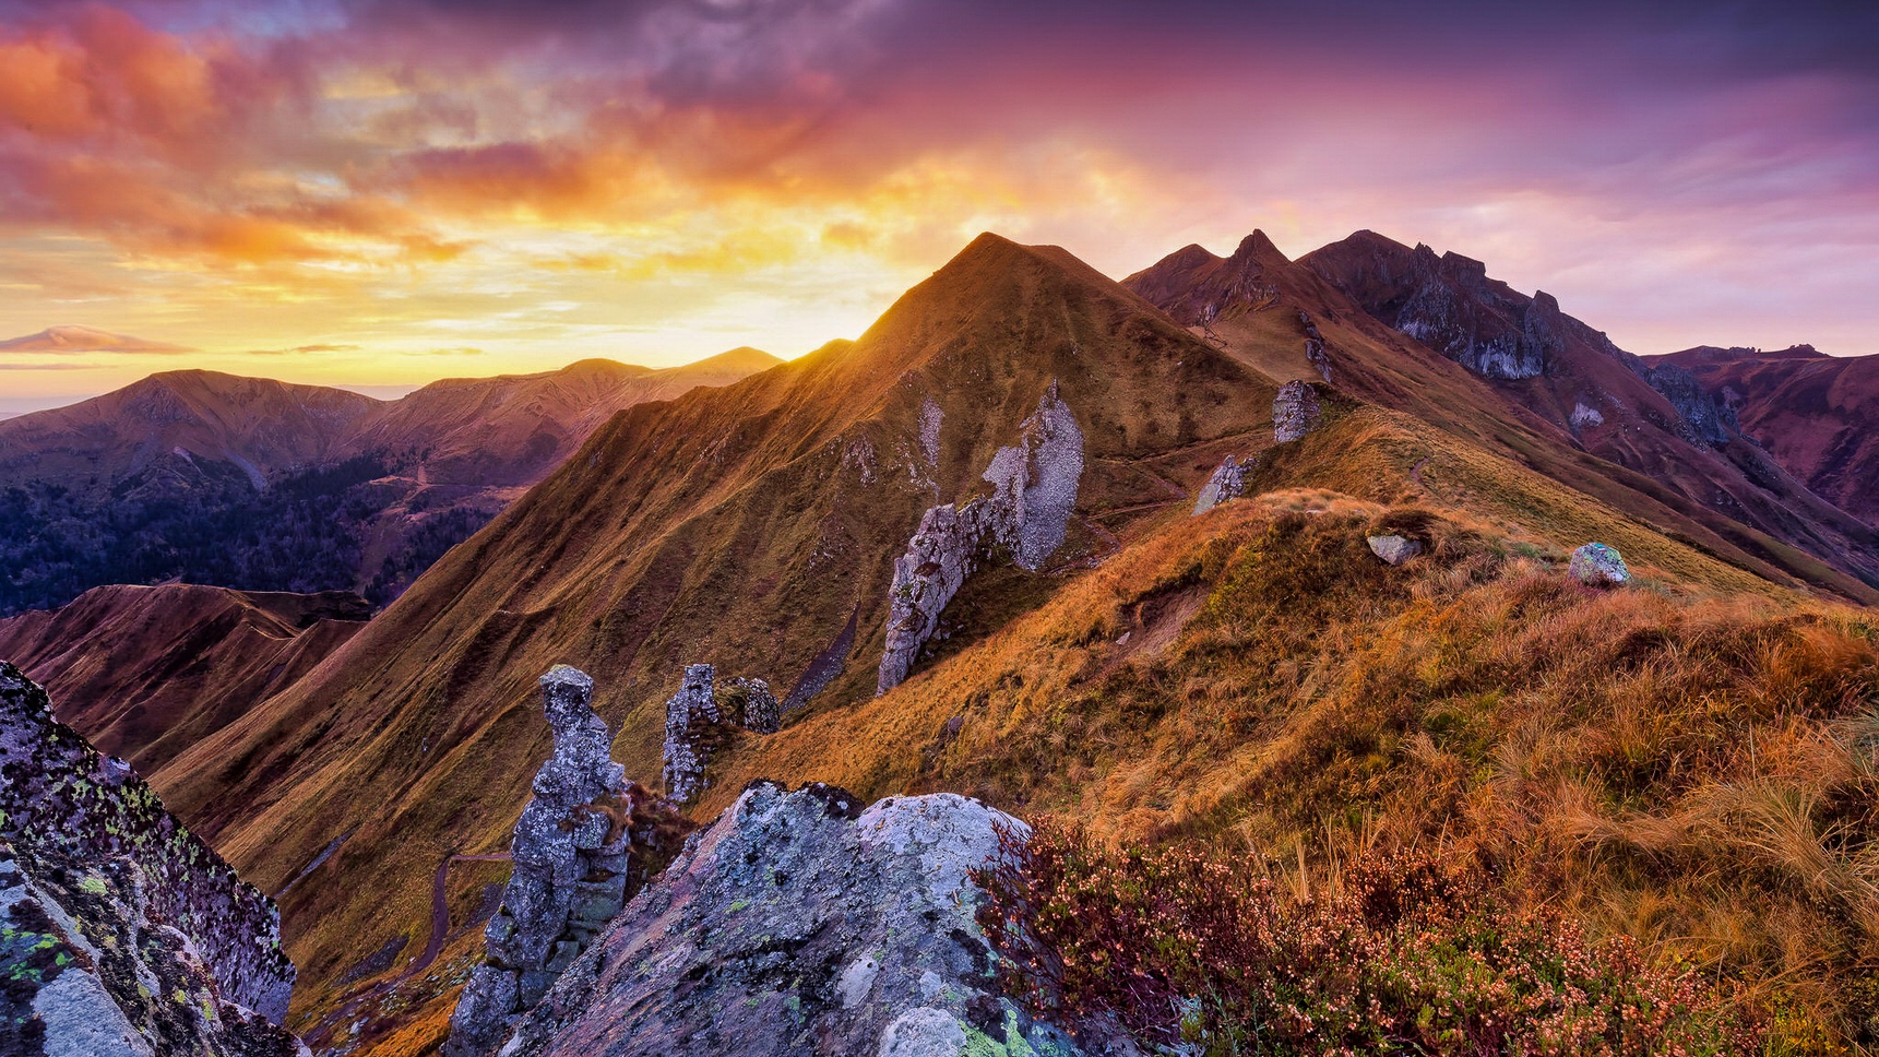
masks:
<path fill-rule="evenodd" d="M 398 594 L 622 408 L 780 363 L 434 382 L 398 401 L 167 371 L 0 421 L 0 615 L 103 583 Z"/>

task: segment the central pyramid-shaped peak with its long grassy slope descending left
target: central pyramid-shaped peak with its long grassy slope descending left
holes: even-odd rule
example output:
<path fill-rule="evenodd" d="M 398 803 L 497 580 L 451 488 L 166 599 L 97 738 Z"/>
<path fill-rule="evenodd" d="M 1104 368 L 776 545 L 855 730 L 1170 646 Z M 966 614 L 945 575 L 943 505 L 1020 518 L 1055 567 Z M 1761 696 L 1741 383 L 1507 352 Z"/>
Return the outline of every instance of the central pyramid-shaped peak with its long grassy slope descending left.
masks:
<path fill-rule="evenodd" d="M 1191 506 L 1218 442 L 1268 429 L 1274 389 L 1062 250 L 981 237 L 853 344 L 618 416 L 158 781 L 269 886 L 351 833 L 286 895 L 308 1004 L 329 1001 L 361 937 L 423 927 L 442 856 L 502 841 L 543 754 L 526 702 L 551 664 L 594 675 L 633 777 L 660 773 L 684 660 L 782 688 L 823 655 L 840 673 L 812 709 L 872 696 L 894 559 L 926 508 L 994 491 L 986 468 L 1052 393 L 1082 438 L 1065 540 L 1037 574 L 985 570 L 996 591 L 958 600 L 951 643 L 1144 512 Z M 1180 483 L 1152 463 L 1174 453 Z"/>

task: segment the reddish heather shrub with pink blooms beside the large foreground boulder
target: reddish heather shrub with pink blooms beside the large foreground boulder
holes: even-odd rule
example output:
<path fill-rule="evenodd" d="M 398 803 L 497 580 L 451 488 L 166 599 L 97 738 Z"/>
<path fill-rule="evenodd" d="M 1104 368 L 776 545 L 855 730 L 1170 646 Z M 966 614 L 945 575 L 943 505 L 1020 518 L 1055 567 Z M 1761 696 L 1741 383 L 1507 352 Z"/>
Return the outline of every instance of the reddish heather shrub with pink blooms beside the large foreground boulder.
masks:
<path fill-rule="evenodd" d="M 979 875 L 1003 982 L 1035 1012 L 1171 1053 L 1744 1053 L 1687 967 L 1516 907 L 1473 860 L 1364 852 L 1300 891 L 1201 844 L 1110 850 L 1045 820 Z"/>

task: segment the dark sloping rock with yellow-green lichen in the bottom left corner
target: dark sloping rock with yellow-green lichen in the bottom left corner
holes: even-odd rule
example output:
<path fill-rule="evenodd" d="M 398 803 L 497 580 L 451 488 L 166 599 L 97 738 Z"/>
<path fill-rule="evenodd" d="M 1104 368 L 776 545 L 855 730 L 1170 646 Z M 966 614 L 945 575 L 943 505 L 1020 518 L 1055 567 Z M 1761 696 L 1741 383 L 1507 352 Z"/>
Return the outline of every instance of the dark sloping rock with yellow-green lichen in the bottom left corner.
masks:
<path fill-rule="evenodd" d="M 280 914 L 0 662 L 0 1051 L 289 1055 Z"/>

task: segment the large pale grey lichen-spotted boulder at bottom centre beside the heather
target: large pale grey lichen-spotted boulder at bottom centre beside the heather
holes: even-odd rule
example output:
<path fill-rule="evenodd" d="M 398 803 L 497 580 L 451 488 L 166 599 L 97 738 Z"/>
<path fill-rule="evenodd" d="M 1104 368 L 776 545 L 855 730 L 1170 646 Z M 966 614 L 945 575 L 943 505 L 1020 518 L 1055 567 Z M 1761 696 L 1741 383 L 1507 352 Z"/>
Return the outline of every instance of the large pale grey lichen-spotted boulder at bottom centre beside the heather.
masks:
<path fill-rule="evenodd" d="M 998 995 L 968 871 L 1022 824 L 755 782 L 515 1025 L 504 1053 L 1075 1055 Z M 684 1040 L 684 1042 L 678 1042 Z"/>

